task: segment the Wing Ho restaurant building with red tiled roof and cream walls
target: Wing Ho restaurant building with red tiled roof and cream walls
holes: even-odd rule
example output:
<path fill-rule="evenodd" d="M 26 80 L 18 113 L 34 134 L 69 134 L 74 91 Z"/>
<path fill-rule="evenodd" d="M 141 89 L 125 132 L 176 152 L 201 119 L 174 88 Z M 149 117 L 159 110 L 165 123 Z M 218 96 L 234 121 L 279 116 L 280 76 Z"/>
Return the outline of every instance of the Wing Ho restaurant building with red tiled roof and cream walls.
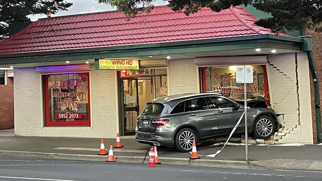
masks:
<path fill-rule="evenodd" d="M 15 135 L 132 135 L 157 97 L 219 92 L 242 100 L 236 66 L 252 65 L 247 97 L 279 115 L 280 142 L 313 143 L 310 38 L 272 35 L 242 7 L 186 17 L 166 6 L 40 19 L 0 43 L 14 66 Z"/>

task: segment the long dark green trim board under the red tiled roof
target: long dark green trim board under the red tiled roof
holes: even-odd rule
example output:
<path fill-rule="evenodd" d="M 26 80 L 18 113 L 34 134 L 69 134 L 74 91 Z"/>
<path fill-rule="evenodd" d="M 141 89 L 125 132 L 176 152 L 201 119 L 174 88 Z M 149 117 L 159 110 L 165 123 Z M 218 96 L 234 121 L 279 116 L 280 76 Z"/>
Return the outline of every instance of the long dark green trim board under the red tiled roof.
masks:
<path fill-rule="evenodd" d="M 5 65 L 94 58 L 116 58 L 125 56 L 147 56 L 258 47 L 278 47 L 300 50 L 303 42 L 304 40 L 302 38 L 280 37 L 274 35 L 254 35 L 159 44 L 112 46 L 21 54 L 2 54 L 0 55 L 0 64 Z"/>

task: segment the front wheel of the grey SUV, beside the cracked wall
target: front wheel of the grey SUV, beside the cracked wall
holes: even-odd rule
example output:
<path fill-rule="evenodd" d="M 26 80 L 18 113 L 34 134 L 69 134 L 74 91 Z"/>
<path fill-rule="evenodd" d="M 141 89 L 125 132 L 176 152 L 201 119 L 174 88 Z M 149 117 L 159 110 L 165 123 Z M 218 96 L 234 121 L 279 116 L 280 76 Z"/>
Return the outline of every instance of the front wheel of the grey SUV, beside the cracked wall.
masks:
<path fill-rule="evenodd" d="M 269 116 L 260 116 L 254 124 L 254 136 L 261 139 L 267 139 L 275 130 L 275 123 Z"/>

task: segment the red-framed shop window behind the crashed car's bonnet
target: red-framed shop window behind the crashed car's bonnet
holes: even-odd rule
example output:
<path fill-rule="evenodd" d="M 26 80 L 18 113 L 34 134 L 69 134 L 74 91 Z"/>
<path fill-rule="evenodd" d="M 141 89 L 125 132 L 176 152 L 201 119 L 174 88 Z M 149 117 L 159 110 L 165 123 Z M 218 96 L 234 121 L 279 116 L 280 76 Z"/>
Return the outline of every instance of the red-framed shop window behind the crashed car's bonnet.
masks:
<path fill-rule="evenodd" d="M 252 66 L 254 82 L 247 84 L 247 99 L 270 106 L 266 66 Z M 202 92 L 220 93 L 235 101 L 244 100 L 244 84 L 236 83 L 236 66 L 202 67 L 200 73 Z"/>

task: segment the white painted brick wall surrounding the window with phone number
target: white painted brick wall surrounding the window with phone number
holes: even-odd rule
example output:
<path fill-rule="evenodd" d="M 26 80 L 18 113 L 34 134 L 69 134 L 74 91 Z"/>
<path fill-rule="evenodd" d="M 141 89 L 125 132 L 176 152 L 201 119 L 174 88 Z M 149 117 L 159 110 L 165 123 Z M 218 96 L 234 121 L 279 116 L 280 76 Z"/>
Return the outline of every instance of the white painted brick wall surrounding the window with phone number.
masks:
<path fill-rule="evenodd" d="M 36 68 L 15 69 L 15 135 L 53 137 L 115 137 L 118 130 L 115 71 L 97 71 L 92 65 L 91 127 L 43 127 L 41 74 Z"/>

